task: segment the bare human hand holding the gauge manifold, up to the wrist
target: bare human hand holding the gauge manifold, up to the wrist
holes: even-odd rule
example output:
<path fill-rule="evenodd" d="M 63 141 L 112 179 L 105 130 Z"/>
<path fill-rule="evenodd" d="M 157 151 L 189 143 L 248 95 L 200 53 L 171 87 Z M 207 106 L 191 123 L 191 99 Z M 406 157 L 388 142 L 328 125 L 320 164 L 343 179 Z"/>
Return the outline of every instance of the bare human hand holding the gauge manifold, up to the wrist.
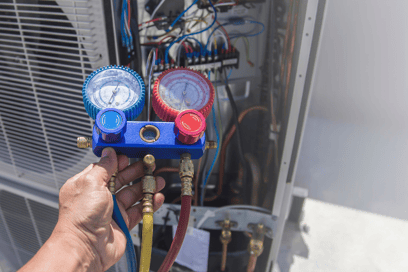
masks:
<path fill-rule="evenodd" d="M 74 239 L 82 247 L 83 256 L 89 256 L 92 271 L 105 271 L 119 261 L 125 252 L 126 237 L 112 220 L 113 201 L 108 189 L 112 174 L 116 176 L 116 190 L 143 176 L 143 164 L 129 165 L 124 155 L 116 156 L 112 148 L 105 148 L 99 163 L 89 165 L 70 178 L 60 190 L 59 218 L 53 235 Z M 165 181 L 156 178 L 157 191 Z M 119 209 L 129 230 L 142 219 L 142 203 L 134 205 L 143 196 L 142 183 L 128 186 L 116 194 Z M 153 198 L 156 211 L 164 202 L 157 193 Z M 65 238 L 66 239 L 66 238 Z"/>

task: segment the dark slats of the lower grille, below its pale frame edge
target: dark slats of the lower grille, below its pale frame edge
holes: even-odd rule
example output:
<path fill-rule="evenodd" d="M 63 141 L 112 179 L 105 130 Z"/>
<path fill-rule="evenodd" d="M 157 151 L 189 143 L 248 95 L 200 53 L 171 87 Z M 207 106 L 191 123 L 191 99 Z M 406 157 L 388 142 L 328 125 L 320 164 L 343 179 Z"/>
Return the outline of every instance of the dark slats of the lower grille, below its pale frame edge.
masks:
<path fill-rule="evenodd" d="M 50 237 L 58 221 L 58 209 L 0 191 L 0 256 L 18 269 L 28 262 Z M 125 272 L 123 257 L 109 272 Z"/>

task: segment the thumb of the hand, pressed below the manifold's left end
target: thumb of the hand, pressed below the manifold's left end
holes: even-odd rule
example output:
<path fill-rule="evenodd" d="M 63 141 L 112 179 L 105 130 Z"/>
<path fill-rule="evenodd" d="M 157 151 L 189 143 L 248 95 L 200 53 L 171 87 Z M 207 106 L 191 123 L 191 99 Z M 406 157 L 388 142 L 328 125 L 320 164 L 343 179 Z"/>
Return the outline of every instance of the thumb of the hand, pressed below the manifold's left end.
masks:
<path fill-rule="evenodd" d="M 100 161 L 88 172 L 89 179 L 107 183 L 117 171 L 118 159 L 113 148 L 107 147 L 102 151 Z"/>

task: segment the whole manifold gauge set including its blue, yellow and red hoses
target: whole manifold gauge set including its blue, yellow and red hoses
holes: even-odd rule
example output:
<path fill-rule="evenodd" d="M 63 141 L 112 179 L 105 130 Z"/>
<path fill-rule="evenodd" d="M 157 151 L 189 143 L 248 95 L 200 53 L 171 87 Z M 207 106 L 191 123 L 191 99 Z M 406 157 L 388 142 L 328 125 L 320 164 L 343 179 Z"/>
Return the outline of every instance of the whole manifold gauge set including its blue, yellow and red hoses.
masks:
<path fill-rule="evenodd" d="M 95 120 L 92 138 L 78 138 L 78 147 L 92 147 L 101 156 L 105 147 L 129 158 L 143 158 L 143 237 L 140 272 L 150 271 L 153 240 L 153 176 L 155 159 L 180 159 L 181 178 L 180 220 L 160 272 L 168 272 L 180 251 L 190 217 L 192 159 L 205 151 L 205 119 L 214 102 L 214 87 L 201 73 L 185 68 L 163 72 L 156 80 L 150 97 L 147 91 L 147 121 L 134 121 L 145 106 L 145 84 L 142 78 L 126 67 L 108 66 L 93 72 L 85 81 L 82 95 L 87 113 Z M 151 99 L 150 99 L 151 98 Z M 151 101 L 150 101 L 151 100 Z M 163 122 L 150 121 L 150 102 Z M 81 140 L 82 139 L 82 140 Z M 132 238 L 119 211 L 115 197 L 115 175 L 109 181 L 114 209 L 113 220 L 127 238 L 126 257 L 129 271 L 136 271 Z"/>

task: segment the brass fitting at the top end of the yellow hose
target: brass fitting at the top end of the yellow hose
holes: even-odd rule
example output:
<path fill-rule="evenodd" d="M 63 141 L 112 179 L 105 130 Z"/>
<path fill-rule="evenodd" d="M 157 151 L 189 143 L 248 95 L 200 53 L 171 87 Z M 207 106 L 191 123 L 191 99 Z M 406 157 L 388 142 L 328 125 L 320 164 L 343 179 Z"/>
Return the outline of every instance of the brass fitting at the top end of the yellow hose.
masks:
<path fill-rule="evenodd" d="M 153 176 L 155 159 L 153 155 L 146 155 L 143 158 L 144 176 L 143 186 L 143 213 L 153 213 L 153 194 L 156 192 L 156 179 Z"/>

